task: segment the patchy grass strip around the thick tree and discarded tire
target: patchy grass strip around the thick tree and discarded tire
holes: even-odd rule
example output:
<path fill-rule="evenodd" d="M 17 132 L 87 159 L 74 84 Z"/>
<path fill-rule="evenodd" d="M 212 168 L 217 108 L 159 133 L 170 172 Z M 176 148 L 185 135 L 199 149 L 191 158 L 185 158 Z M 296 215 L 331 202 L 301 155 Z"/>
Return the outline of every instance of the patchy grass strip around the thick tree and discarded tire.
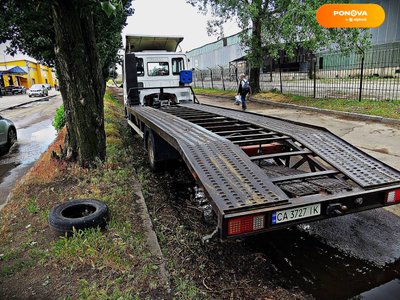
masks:
<path fill-rule="evenodd" d="M 106 161 L 83 169 L 52 159 L 63 145 L 61 130 L 0 212 L 0 298 L 141 299 L 164 293 L 136 208 L 123 107 L 109 93 L 104 100 Z M 108 205 L 107 230 L 57 236 L 47 223 L 51 208 L 84 198 Z"/>

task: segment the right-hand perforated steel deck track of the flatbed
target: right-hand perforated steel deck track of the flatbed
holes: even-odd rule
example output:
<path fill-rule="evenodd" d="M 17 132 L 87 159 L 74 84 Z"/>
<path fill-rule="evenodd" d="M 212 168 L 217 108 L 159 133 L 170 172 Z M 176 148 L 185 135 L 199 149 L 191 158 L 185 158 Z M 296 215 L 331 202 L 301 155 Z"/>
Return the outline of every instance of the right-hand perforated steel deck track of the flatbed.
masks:
<path fill-rule="evenodd" d="M 234 118 L 288 135 L 363 188 L 400 182 L 400 172 L 362 152 L 326 129 L 209 105 L 184 104 L 181 106 Z"/>

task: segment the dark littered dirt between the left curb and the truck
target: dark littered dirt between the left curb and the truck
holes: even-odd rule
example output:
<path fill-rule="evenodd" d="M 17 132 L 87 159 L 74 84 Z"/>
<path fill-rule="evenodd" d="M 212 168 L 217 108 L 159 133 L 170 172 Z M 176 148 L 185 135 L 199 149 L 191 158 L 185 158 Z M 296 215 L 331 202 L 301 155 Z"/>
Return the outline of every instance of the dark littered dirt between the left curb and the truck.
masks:
<path fill-rule="evenodd" d="M 245 241 L 201 239 L 216 226 L 204 222 L 193 199 L 195 182 L 181 162 L 159 173 L 147 171 L 145 150 L 135 139 L 136 168 L 141 174 L 161 249 L 177 298 L 300 299 L 296 289 L 281 287 L 279 276 L 264 254 Z"/>

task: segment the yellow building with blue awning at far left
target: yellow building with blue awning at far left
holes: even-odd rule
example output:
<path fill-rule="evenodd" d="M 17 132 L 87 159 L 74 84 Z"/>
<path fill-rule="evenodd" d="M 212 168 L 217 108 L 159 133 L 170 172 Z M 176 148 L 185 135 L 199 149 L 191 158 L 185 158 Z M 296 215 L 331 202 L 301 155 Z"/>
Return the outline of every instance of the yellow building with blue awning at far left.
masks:
<path fill-rule="evenodd" d="M 25 72 L 11 74 L 8 70 L 20 67 Z M 25 73 L 25 74 L 24 74 Z M 0 61 L 0 85 L 3 87 L 9 85 L 22 85 L 29 89 L 35 83 L 49 83 L 52 87 L 58 85 L 58 80 L 52 68 L 35 63 L 27 59 Z"/>

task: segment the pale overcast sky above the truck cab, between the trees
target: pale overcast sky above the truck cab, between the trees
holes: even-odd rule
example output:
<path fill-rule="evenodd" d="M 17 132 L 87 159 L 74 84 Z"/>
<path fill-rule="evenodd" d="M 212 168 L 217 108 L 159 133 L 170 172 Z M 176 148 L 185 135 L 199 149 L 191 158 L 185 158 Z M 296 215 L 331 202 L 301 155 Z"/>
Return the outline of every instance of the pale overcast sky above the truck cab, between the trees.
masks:
<path fill-rule="evenodd" d="M 205 16 L 185 0 L 134 0 L 132 5 L 135 13 L 128 18 L 128 25 L 124 28 L 122 36 L 183 36 L 184 40 L 180 46 L 184 52 L 217 40 L 216 36 L 207 35 L 206 26 L 210 14 Z M 224 26 L 225 36 L 239 31 L 239 27 L 233 22 Z"/>

